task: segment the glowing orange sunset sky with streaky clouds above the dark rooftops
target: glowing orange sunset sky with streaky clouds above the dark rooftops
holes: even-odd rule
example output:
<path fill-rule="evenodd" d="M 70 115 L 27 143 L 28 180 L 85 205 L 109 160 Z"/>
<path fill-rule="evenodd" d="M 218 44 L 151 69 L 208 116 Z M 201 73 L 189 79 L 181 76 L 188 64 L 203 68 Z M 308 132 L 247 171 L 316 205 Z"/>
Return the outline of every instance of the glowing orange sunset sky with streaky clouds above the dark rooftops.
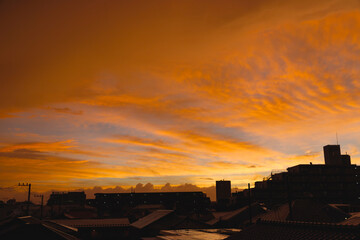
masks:
<path fill-rule="evenodd" d="M 360 163 L 359 1 L 1 1 L 0 48 L 0 197 Z"/>

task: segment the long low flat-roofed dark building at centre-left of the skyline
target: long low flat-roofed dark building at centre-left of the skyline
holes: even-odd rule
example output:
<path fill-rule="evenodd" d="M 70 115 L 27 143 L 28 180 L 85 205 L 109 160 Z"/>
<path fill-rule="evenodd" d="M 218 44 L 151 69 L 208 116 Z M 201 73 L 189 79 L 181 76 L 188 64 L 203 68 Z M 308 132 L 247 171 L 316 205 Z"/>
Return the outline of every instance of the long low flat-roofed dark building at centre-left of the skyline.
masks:
<path fill-rule="evenodd" d="M 95 193 L 100 215 L 122 216 L 142 204 L 161 204 L 166 209 L 202 212 L 210 206 L 203 192 Z"/>

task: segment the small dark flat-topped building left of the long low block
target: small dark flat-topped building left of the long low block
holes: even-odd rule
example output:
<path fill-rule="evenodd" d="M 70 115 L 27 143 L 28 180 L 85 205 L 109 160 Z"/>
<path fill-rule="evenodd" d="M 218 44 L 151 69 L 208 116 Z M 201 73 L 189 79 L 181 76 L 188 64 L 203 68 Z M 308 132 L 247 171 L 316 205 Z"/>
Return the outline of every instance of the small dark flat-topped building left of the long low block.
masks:
<path fill-rule="evenodd" d="M 47 205 L 78 205 L 84 206 L 86 201 L 85 192 L 53 192 Z"/>

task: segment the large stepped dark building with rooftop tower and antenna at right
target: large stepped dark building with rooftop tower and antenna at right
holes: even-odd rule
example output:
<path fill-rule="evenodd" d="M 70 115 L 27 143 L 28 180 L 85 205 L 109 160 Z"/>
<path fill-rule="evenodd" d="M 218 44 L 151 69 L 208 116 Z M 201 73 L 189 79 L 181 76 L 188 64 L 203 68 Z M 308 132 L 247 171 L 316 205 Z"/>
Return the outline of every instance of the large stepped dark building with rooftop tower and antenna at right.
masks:
<path fill-rule="evenodd" d="M 325 164 L 300 164 L 255 182 L 256 200 L 270 203 L 314 198 L 328 203 L 359 203 L 360 168 L 341 155 L 339 145 L 324 147 Z"/>

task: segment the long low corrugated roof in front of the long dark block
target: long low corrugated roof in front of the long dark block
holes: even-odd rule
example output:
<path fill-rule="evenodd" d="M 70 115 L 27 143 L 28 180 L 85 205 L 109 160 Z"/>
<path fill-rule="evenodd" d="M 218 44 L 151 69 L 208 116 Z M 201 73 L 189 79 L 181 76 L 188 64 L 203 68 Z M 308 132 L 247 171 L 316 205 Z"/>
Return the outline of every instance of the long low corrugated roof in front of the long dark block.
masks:
<path fill-rule="evenodd" d="M 68 226 L 72 228 L 82 227 L 127 227 L 130 226 L 127 218 L 112 218 L 112 219 L 61 219 L 53 220 L 56 224 Z"/>

